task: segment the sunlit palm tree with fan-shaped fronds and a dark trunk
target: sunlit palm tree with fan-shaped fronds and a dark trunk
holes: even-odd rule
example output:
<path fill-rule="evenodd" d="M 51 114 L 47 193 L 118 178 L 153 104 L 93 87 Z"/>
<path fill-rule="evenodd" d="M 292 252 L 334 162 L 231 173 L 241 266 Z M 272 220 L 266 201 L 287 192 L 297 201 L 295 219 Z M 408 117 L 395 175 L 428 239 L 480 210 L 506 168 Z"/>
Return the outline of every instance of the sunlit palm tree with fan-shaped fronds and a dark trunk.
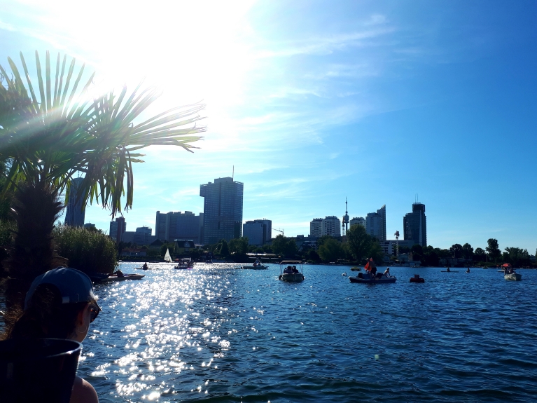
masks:
<path fill-rule="evenodd" d="M 140 149 L 151 145 L 196 148 L 204 127 L 197 125 L 204 104 L 169 109 L 134 123 L 158 97 L 154 88 L 127 96 L 127 88 L 88 100 L 94 74 L 82 81 L 84 67 L 57 56 L 55 71 L 46 53 L 44 71 L 36 51 L 39 92 L 20 54 L 25 81 L 8 58 L 11 74 L 0 65 L 0 160 L 6 159 L 6 189 L 15 187 L 17 221 L 10 273 L 31 279 L 55 264 L 54 223 L 62 211 L 58 196 L 69 196 L 70 179 L 83 176 L 77 198 L 97 200 L 111 216 L 132 207 L 132 164 L 144 162 Z M 74 189 L 74 188 L 73 188 Z M 125 205 L 122 209 L 122 198 Z"/>

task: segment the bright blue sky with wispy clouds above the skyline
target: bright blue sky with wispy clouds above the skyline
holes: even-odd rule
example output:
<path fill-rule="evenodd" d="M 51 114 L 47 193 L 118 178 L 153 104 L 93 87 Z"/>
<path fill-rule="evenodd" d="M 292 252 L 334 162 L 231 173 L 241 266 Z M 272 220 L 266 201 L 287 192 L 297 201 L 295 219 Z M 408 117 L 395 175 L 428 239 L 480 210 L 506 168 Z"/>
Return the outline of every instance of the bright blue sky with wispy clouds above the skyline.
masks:
<path fill-rule="evenodd" d="M 158 86 L 154 111 L 207 103 L 199 150 L 154 147 L 135 168 L 127 230 L 202 212 L 200 184 L 235 165 L 244 221 L 286 235 L 342 217 L 345 197 L 351 217 L 386 204 L 402 233 L 419 195 L 429 245 L 535 253 L 535 1 L 42 3 L 3 6 L 2 65 L 60 51 L 97 88 Z"/>

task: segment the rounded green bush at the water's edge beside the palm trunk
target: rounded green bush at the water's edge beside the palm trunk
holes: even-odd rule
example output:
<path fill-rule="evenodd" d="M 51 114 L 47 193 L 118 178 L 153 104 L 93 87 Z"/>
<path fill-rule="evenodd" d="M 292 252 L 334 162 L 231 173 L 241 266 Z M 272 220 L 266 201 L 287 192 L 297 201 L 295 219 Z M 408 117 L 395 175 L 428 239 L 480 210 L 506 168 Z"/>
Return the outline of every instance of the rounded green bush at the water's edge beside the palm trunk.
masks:
<path fill-rule="evenodd" d="M 114 271 L 118 252 L 108 235 L 71 226 L 57 226 L 53 235 L 57 253 L 69 260 L 69 267 L 85 273 Z"/>

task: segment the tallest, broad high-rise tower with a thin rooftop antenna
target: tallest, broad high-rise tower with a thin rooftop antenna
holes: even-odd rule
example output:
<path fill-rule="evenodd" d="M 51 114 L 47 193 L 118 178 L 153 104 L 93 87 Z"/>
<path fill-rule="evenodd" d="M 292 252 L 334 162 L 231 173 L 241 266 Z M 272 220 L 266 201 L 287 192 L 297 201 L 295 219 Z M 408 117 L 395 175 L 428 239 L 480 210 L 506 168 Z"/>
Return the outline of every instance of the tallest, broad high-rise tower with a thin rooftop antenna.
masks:
<path fill-rule="evenodd" d="M 200 185 L 203 203 L 203 242 L 217 243 L 242 236 L 242 195 L 244 184 L 230 177 Z"/>

